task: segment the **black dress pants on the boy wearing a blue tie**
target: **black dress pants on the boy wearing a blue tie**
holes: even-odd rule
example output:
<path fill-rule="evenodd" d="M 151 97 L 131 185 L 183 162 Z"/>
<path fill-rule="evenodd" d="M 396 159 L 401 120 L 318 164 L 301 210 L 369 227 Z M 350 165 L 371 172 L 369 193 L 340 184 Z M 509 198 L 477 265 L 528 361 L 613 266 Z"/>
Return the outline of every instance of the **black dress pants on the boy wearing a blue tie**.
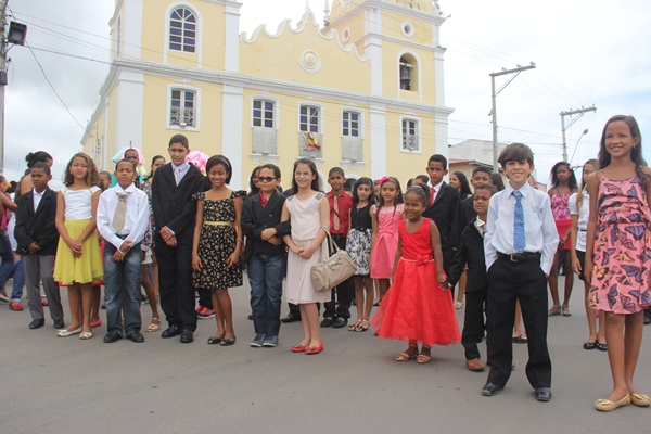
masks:
<path fill-rule="evenodd" d="M 528 339 L 526 376 L 534 388 L 551 386 L 551 360 L 547 349 L 547 278 L 539 259 L 512 261 L 501 255 L 486 277 L 488 382 L 503 386 L 511 375 L 515 301 L 520 301 Z"/>

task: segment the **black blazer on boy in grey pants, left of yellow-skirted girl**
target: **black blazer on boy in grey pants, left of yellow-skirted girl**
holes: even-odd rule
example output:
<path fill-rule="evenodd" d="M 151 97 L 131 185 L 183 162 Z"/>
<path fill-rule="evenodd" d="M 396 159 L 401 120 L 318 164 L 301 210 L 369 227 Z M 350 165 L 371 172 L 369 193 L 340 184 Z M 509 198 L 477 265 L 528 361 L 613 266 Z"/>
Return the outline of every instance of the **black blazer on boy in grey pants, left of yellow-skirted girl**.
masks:
<path fill-rule="evenodd" d="M 18 243 L 21 255 L 28 255 L 27 246 L 36 243 L 40 251 L 37 255 L 51 256 L 56 254 L 59 245 L 59 232 L 54 220 L 56 219 L 56 193 L 46 188 L 43 196 L 38 204 L 38 209 L 34 209 L 34 190 L 22 194 L 18 199 L 18 209 L 16 210 L 16 227 L 14 238 Z"/>

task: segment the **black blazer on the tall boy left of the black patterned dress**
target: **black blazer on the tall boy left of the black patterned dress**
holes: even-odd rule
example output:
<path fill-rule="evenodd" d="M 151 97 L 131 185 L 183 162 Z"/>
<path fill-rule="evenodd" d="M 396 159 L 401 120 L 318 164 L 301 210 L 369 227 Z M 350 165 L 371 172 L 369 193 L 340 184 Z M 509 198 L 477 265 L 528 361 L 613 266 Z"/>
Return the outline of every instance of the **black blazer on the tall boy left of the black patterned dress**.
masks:
<path fill-rule="evenodd" d="M 156 230 L 168 227 L 177 240 L 190 240 L 194 234 L 196 218 L 196 199 L 193 194 L 206 191 L 206 177 L 192 164 L 181 182 L 174 179 L 171 163 L 156 169 L 152 182 L 152 208 Z M 156 233 L 156 235 L 158 235 Z"/>

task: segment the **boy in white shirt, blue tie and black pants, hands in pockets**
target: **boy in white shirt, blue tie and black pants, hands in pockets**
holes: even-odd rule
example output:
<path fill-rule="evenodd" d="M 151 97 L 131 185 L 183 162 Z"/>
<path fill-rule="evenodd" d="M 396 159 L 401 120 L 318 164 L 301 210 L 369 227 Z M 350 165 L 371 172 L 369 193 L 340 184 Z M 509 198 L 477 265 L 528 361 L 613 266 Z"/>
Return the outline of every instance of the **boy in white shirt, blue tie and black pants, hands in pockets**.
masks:
<path fill-rule="evenodd" d="M 528 335 L 526 376 L 540 401 L 551 399 L 551 360 L 547 349 L 547 277 L 559 244 L 550 199 L 526 178 L 534 169 L 532 150 L 511 143 L 499 154 L 509 184 L 490 199 L 484 234 L 488 381 L 482 395 L 496 395 L 511 375 L 511 332 L 520 302 Z M 526 229 L 526 230 L 525 230 Z"/>

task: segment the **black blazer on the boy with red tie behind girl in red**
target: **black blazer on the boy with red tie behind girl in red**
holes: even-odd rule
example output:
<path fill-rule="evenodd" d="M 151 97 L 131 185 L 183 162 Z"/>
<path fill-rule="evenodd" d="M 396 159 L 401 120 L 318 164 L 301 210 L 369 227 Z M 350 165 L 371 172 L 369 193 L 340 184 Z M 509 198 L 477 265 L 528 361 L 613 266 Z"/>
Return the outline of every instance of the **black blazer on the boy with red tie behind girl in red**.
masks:
<path fill-rule="evenodd" d="M 434 203 L 423 213 L 423 217 L 431 218 L 436 224 L 442 251 L 459 246 L 459 191 L 444 182 Z"/>

